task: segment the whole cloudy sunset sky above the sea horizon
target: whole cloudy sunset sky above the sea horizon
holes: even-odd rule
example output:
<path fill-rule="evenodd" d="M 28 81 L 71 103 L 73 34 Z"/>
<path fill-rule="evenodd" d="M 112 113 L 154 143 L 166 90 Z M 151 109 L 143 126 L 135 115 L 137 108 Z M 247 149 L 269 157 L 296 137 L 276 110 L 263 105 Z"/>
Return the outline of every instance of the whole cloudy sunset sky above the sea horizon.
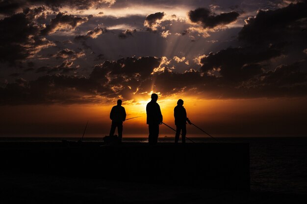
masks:
<path fill-rule="evenodd" d="M 307 136 L 306 0 L 0 0 L 0 136 Z M 187 136 L 205 136 L 187 127 Z M 160 136 L 173 136 L 160 126 Z"/>

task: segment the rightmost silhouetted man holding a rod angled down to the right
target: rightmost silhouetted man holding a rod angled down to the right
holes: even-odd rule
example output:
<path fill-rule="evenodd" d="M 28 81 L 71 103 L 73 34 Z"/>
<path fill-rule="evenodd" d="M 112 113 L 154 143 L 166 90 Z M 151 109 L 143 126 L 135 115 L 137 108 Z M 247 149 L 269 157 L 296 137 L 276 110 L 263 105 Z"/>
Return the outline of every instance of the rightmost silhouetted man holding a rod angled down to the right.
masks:
<path fill-rule="evenodd" d="M 186 117 L 186 111 L 183 107 L 183 100 L 179 99 L 177 101 L 177 106 L 174 108 L 174 117 L 175 117 L 175 125 L 176 125 L 176 136 L 175 143 L 179 140 L 179 135 L 181 132 L 182 143 L 185 142 L 186 135 L 186 121 L 191 125 L 189 118 Z"/>

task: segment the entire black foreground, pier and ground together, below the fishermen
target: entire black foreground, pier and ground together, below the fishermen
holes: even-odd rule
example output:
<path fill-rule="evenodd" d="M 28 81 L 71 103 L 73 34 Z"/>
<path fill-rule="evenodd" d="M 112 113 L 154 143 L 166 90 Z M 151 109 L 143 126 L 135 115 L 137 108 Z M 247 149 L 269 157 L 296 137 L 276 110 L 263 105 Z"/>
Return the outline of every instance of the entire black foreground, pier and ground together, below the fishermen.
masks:
<path fill-rule="evenodd" d="M 0 143 L 5 203 L 299 203 L 249 192 L 248 144 Z M 2 202 L 1 202 L 2 203 Z"/>

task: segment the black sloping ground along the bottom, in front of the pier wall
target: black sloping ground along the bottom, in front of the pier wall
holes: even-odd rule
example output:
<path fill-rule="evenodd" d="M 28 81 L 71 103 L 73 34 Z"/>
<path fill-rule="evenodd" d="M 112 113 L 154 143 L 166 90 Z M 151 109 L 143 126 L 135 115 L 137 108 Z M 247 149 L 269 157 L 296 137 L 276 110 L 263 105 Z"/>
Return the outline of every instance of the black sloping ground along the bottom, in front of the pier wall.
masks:
<path fill-rule="evenodd" d="M 306 196 L 295 194 L 210 190 L 31 173 L 0 173 L 0 181 L 1 204 L 303 204 L 307 201 Z"/>

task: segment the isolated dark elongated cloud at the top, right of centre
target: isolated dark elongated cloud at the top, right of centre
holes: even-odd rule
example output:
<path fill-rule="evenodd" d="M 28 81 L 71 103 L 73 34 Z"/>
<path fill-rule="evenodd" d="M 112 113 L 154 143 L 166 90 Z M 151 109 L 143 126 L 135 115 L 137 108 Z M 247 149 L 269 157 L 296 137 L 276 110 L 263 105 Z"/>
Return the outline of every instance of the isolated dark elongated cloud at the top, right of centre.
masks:
<path fill-rule="evenodd" d="M 239 13 L 234 11 L 214 15 L 206 8 L 197 8 L 194 11 L 189 11 L 188 13 L 191 22 L 202 23 L 204 28 L 214 28 L 218 25 L 229 24 L 234 22 L 239 15 Z"/>

